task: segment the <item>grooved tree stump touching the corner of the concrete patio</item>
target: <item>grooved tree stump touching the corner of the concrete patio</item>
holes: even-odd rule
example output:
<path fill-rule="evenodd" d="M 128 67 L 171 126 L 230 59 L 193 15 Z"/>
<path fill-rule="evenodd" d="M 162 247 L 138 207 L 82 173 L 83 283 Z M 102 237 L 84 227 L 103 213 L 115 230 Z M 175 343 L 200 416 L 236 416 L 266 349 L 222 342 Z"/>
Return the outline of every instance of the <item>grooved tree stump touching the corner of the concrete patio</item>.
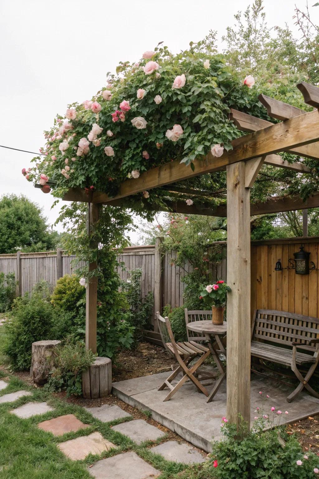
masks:
<path fill-rule="evenodd" d="M 97 357 L 82 374 L 83 397 L 87 399 L 108 396 L 112 389 L 112 361 L 109 358 Z"/>

